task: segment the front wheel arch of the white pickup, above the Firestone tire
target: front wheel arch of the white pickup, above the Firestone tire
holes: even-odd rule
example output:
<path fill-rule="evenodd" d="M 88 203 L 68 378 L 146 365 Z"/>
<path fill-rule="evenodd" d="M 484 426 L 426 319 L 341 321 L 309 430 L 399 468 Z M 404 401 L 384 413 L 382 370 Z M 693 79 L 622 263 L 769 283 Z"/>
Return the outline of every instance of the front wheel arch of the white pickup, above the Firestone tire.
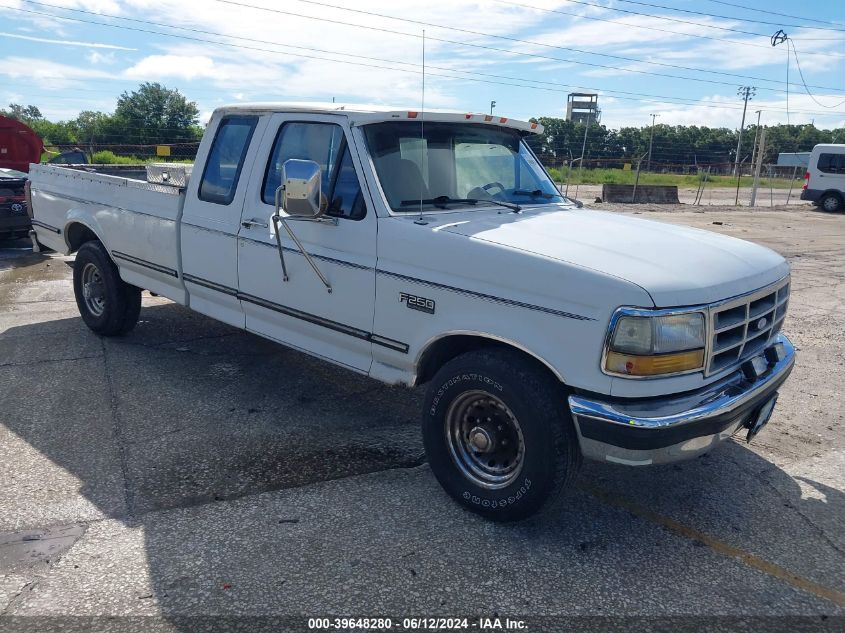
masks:
<path fill-rule="evenodd" d="M 439 334 L 423 345 L 414 364 L 416 368 L 414 385 L 428 382 L 440 367 L 461 354 L 491 347 L 513 350 L 549 372 L 561 384 L 566 384 L 564 377 L 550 362 L 525 346 L 487 332 L 458 330 Z"/>

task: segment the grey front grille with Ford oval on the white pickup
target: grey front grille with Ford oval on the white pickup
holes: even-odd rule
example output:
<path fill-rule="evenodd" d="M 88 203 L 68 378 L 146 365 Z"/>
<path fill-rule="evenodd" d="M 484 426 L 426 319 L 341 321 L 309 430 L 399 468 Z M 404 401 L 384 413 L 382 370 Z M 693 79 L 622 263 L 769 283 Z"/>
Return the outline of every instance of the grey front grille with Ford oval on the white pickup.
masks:
<path fill-rule="evenodd" d="M 789 278 L 710 307 L 707 375 L 751 358 L 777 334 L 786 317 Z"/>

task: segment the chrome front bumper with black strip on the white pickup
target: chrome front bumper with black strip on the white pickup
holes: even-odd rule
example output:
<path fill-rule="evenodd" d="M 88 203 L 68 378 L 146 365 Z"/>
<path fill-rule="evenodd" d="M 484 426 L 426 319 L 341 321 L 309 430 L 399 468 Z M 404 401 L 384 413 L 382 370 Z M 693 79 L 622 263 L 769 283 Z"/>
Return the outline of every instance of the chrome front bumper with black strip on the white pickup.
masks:
<path fill-rule="evenodd" d="M 747 365 L 749 360 L 726 378 L 677 396 L 637 400 L 569 396 L 581 452 L 591 459 L 631 466 L 676 462 L 707 452 L 753 424 L 795 364 L 795 348 L 782 334 L 761 355 L 763 372 L 762 361 L 757 361 L 755 372 Z"/>

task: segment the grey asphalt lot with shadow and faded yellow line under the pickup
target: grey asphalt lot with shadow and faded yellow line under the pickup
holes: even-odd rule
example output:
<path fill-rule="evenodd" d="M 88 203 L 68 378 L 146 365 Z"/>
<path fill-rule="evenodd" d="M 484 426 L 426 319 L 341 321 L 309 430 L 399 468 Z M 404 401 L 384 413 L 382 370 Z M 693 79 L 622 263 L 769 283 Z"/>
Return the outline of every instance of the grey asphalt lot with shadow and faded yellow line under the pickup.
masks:
<path fill-rule="evenodd" d="M 147 293 L 101 339 L 72 257 L 0 243 L 0 614 L 845 615 L 845 215 L 636 213 L 788 257 L 797 367 L 754 443 L 513 525 L 441 491 L 420 391 Z"/>

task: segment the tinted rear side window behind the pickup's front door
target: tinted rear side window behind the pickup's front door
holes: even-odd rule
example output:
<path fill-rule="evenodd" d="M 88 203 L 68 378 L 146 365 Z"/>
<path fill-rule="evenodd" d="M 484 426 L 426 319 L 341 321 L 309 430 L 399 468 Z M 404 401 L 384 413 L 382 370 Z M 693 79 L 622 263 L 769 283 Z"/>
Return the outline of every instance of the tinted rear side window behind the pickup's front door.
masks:
<path fill-rule="evenodd" d="M 232 202 L 257 123 L 255 116 L 232 116 L 220 121 L 205 161 L 200 200 L 224 205 Z"/>

